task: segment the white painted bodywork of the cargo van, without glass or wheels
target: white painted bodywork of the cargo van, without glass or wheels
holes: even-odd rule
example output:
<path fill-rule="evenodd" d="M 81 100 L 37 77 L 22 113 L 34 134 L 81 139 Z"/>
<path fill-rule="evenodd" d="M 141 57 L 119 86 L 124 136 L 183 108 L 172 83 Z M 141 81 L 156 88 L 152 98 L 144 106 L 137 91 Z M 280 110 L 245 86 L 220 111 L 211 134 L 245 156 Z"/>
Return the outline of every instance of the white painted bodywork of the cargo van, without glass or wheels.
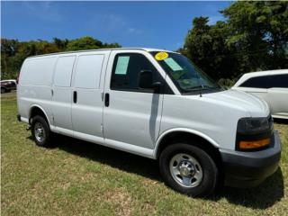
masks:
<path fill-rule="evenodd" d="M 99 49 L 27 58 L 17 92 L 21 120 L 28 121 L 37 106 L 54 132 L 156 158 L 161 139 L 175 131 L 193 133 L 215 148 L 234 149 L 238 119 L 269 115 L 262 100 L 235 90 L 180 94 L 148 53 L 155 50 Z M 112 90 L 113 60 L 119 53 L 148 58 L 173 94 Z M 110 94 L 108 107 L 104 94 Z"/>

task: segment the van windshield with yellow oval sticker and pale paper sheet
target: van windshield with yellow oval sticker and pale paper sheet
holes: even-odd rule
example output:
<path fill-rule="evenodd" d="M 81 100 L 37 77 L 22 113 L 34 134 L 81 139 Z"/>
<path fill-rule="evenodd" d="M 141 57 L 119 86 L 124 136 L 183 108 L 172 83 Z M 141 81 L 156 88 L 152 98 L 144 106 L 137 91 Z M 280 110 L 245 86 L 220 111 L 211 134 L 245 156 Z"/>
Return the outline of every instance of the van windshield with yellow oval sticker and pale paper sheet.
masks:
<path fill-rule="evenodd" d="M 178 53 L 150 52 L 156 58 L 159 65 L 170 76 L 182 93 L 190 93 L 199 90 L 217 90 L 220 85 L 209 76 L 195 67 L 192 61 Z"/>

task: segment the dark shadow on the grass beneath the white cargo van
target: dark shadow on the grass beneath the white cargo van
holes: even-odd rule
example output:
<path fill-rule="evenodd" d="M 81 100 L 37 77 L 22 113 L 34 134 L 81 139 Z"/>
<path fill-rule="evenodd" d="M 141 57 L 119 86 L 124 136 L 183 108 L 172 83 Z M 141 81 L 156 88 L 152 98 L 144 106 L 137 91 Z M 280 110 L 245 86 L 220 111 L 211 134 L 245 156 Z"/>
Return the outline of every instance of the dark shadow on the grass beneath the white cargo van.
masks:
<path fill-rule="evenodd" d="M 156 160 L 61 135 L 56 135 L 53 143 L 54 148 L 59 148 L 70 154 L 86 157 L 125 172 L 162 182 Z M 264 183 L 255 188 L 222 187 L 218 193 L 206 199 L 217 202 L 224 198 L 230 203 L 247 208 L 266 209 L 280 201 L 282 197 L 284 197 L 284 178 L 279 167 L 274 175 L 268 177 Z"/>

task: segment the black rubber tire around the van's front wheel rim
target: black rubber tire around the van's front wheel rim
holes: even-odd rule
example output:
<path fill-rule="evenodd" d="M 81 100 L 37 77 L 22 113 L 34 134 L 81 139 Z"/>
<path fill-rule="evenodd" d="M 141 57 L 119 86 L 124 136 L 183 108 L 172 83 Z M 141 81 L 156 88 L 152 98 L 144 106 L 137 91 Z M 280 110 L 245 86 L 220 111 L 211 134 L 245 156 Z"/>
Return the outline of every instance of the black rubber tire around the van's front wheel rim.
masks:
<path fill-rule="evenodd" d="M 179 184 L 170 172 L 170 160 L 177 154 L 192 156 L 199 162 L 202 168 L 202 180 L 194 187 L 185 187 Z M 177 165 L 178 166 L 178 165 Z M 176 166 L 176 167 L 177 167 Z M 159 158 L 159 168 L 165 183 L 179 193 L 184 193 L 193 197 L 209 196 L 217 187 L 219 179 L 218 168 L 209 154 L 202 148 L 195 147 L 186 143 L 175 143 L 167 146 Z"/>

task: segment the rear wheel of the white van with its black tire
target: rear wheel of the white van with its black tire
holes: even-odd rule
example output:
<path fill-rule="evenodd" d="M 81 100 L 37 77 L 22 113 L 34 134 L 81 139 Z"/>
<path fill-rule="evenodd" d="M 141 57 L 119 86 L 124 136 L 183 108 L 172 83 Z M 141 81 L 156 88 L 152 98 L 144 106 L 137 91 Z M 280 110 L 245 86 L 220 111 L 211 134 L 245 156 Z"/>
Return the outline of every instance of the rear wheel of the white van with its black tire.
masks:
<path fill-rule="evenodd" d="M 40 128 L 40 130 L 43 131 L 42 134 L 44 134 L 44 136 L 42 137 L 43 139 L 40 139 L 40 136 L 37 136 L 37 128 Z M 31 120 L 31 134 L 32 134 L 32 138 L 34 139 L 35 143 L 37 146 L 40 147 L 49 147 L 50 146 L 50 136 L 51 136 L 51 132 L 49 129 L 49 124 L 48 122 L 40 115 L 36 115 L 35 117 L 32 118 Z"/>

